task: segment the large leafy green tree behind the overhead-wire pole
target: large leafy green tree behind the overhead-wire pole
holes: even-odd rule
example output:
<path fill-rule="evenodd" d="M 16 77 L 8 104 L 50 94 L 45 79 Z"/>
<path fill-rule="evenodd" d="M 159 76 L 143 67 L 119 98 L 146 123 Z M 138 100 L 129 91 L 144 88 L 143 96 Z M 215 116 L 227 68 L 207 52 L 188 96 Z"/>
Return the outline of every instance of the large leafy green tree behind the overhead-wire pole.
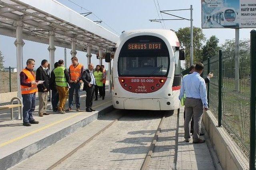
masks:
<path fill-rule="evenodd" d="M 180 44 L 185 47 L 186 68 L 188 68 L 190 66 L 190 27 L 178 29 L 178 31 L 176 31 L 176 35 L 180 41 Z M 193 27 L 193 63 L 202 61 L 202 42 L 204 42 L 204 39 L 205 35 L 202 29 Z"/>

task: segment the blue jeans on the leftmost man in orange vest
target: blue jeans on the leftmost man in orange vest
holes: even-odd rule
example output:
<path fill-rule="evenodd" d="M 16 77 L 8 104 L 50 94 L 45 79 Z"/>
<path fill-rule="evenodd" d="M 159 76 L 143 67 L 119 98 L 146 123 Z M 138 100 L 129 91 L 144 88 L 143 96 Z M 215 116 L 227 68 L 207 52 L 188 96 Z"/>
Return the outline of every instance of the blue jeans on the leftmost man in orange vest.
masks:
<path fill-rule="evenodd" d="M 34 120 L 33 111 L 36 108 L 36 93 L 22 94 L 22 102 L 23 123 L 29 123 Z"/>

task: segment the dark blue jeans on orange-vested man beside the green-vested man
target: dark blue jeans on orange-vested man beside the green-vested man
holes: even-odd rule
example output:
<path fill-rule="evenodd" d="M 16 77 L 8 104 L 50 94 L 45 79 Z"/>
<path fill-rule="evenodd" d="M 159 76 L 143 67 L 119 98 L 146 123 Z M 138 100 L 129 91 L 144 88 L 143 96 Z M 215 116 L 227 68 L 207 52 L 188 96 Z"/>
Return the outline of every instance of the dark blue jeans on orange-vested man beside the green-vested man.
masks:
<path fill-rule="evenodd" d="M 71 83 L 70 89 L 69 89 L 69 95 L 68 95 L 68 107 L 73 107 L 73 95 L 74 90 L 76 91 L 76 108 L 80 108 L 80 87 L 81 83 Z"/>

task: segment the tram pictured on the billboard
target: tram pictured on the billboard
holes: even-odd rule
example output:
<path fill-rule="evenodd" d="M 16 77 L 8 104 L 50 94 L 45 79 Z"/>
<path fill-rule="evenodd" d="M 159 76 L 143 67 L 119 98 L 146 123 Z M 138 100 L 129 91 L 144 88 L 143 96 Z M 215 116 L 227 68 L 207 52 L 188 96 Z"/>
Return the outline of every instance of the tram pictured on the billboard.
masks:
<path fill-rule="evenodd" d="M 214 12 L 212 15 L 212 20 L 216 21 L 222 26 L 236 26 L 236 12 L 234 8 L 221 8 L 220 10 Z"/>

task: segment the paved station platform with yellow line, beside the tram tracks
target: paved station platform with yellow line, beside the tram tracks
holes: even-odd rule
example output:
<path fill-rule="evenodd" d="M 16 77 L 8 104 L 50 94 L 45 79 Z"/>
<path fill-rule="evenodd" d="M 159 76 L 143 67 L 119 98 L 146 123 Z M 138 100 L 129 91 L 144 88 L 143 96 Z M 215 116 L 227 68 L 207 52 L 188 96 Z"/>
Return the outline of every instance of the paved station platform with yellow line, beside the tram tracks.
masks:
<path fill-rule="evenodd" d="M 80 96 L 81 111 L 58 114 L 47 110 L 50 115 L 44 115 L 43 117 L 38 116 L 37 100 L 34 119 L 40 123 L 32 124 L 30 127 L 23 126 L 22 120 L 10 120 L 9 110 L 2 111 L 0 113 L 0 169 L 14 166 L 113 109 L 112 97 L 108 90 L 106 90 L 105 100 L 98 98 L 98 101 L 93 102 L 92 108 L 96 110 L 93 112 L 85 111 L 85 91 L 82 91 Z M 48 107 L 50 107 L 50 102 L 48 102 Z M 68 102 L 66 102 L 67 108 Z M 73 109 L 76 109 L 75 104 Z"/>

